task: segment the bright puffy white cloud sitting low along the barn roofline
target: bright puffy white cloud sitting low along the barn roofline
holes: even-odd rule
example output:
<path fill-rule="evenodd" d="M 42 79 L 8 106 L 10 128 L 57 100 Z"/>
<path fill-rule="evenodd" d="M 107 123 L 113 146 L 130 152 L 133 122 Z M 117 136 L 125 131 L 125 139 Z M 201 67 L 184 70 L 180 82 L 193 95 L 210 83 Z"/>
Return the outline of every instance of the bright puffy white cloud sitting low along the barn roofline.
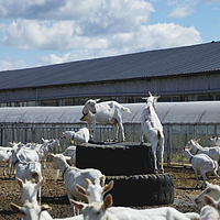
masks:
<path fill-rule="evenodd" d="M 114 34 L 111 40 L 109 40 L 109 46 L 105 50 L 78 50 L 63 56 L 52 54 L 41 57 L 40 65 L 193 45 L 201 42 L 200 34 L 194 26 L 184 28 L 174 23 L 158 23 L 142 26 L 139 32 Z"/>

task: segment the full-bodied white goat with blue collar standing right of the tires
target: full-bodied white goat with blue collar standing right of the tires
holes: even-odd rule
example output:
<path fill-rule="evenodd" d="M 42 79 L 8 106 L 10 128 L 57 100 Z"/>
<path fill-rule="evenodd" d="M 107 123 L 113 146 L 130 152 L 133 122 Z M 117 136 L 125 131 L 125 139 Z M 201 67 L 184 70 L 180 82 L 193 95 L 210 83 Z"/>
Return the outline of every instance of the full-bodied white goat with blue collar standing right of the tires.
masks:
<path fill-rule="evenodd" d="M 194 172 L 196 174 L 196 180 L 197 180 L 196 187 L 199 187 L 198 172 L 200 172 L 200 175 L 204 178 L 204 184 L 201 185 L 201 187 L 206 186 L 206 180 L 207 180 L 206 174 L 208 172 L 213 172 L 213 174 L 217 176 L 217 178 L 220 177 L 217 174 L 218 163 L 216 161 L 213 161 L 212 158 L 210 158 L 207 154 L 196 154 L 196 155 L 193 155 L 189 152 L 189 150 L 186 148 L 186 147 L 184 148 L 184 152 L 185 152 L 186 157 L 191 163 Z"/>

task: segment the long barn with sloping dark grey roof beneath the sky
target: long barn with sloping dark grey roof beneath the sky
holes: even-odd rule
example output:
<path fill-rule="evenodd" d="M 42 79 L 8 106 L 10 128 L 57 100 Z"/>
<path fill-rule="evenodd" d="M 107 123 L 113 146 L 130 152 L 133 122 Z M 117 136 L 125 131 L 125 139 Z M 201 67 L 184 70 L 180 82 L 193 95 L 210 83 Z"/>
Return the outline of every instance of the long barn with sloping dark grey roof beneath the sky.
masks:
<path fill-rule="evenodd" d="M 220 100 L 220 42 L 0 72 L 0 107 Z"/>

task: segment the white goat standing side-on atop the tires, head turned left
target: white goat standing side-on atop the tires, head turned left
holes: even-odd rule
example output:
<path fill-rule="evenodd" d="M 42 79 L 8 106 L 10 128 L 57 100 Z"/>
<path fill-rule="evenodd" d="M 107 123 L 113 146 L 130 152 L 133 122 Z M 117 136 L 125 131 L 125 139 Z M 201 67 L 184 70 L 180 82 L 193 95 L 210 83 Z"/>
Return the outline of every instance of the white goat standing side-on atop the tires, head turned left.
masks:
<path fill-rule="evenodd" d="M 84 117 L 80 119 L 87 121 L 90 130 L 90 139 L 96 141 L 96 123 L 111 123 L 114 127 L 114 139 L 118 141 L 119 128 L 121 129 L 122 141 L 125 141 L 124 128 L 122 124 L 122 112 L 131 113 L 130 109 L 123 107 L 117 101 L 103 101 L 97 103 L 100 99 L 89 99 L 82 109 Z M 92 128 L 90 129 L 90 127 Z"/>

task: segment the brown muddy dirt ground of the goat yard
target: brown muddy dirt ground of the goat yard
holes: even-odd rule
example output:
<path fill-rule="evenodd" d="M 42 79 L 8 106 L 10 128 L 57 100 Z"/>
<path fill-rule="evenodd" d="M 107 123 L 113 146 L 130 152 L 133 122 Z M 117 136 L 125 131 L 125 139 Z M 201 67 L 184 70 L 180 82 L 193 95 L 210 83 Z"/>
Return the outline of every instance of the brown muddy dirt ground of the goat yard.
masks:
<path fill-rule="evenodd" d="M 2 170 L 3 167 L 0 166 L 0 220 L 20 219 L 21 216 L 12 212 L 9 207 L 11 201 L 21 205 L 19 185 L 14 178 L 3 176 Z M 194 202 L 194 199 L 201 190 L 195 189 L 196 180 L 194 170 L 189 167 L 165 167 L 165 173 L 174 175 L 175 186 L 174 204 L 165 206 L 175 207 L 183 212 L 196 211 L 199 213 L 201 207 L 198 207 Z M 72 217 L 73 211 L 65 193 L 63 179 L 59 177 L 58 182 L 54 182 L 54 174 L 55 170 L 52 168 L 52 164 L 48 163 L 46 169 L 43 170 L 46 182 L 42 187 L 42 204 L 47 204 L 52 207 L 50 213 L 53 218 Z M 210 176 L 209 182 L 212 182 L 213 178 L 213 176 Z M 152 206 L 141 208 L 152 208 Z"/>

